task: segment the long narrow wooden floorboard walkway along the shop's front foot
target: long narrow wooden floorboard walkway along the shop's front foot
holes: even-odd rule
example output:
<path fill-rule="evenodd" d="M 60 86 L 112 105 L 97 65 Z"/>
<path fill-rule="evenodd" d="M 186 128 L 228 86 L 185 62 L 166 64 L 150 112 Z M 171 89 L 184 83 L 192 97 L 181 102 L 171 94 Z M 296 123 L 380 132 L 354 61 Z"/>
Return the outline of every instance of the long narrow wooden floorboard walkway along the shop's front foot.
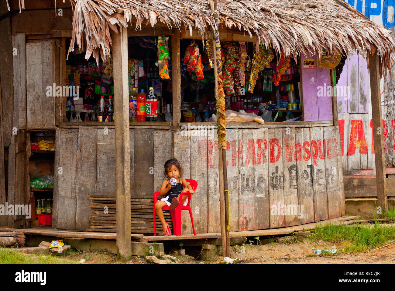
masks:
<path fill-rule="evenodd" d="M 273 235 L 281 235 L 281 234 L 290 234 L 292 232 L 301 231 L 301 230 L 309 230 L 315 228 L 317 225 L 324 225 L 327 223 L 332 224 L 352 224 L 353 219 L 358 218 L 359 216 L 342 216 L 334 219 L 328 219 L 324 221 L 318 221 L 317 223 L 307 223 L 302 225 L 295 225 L 289 227 L 282 228 L 272 228 L 272 229 L 263 229 L 263 230 L 247 230 L 247 231 L 238 231 L 238 232 L 230 232 L 231 238 L 239 238 L 243 236 L 273 236 Z M 52 229 L 50 227 L 45 226 L 37 226 L 31 228 L 7 228 L 0 227 L 0 232 L 8 232 L 8 231 L 20 231 L 24 234 L 29 235 L 40 235 L 40 236 L 55 236 L 59 238 L 87 238 L 87 239 L 100 239 L 100 240 L 116 240 L 117 234 L 115 232 L 83 232 L 83 231 L 73 231 L 73 230 L 61 230 L 61 229 Z M 143 234 L 132 234 L 132 240 L 137 240 L 141 242 L 150 242 L 150 241 L 164 241 L 164 240 L 196 240 L 201 238 L 220 238 L 220 232 L 214 232 L 209 234 L 197 234 L 194 236 L 193 234 L 184 234 L 181 236 L 143 236 Z"/>

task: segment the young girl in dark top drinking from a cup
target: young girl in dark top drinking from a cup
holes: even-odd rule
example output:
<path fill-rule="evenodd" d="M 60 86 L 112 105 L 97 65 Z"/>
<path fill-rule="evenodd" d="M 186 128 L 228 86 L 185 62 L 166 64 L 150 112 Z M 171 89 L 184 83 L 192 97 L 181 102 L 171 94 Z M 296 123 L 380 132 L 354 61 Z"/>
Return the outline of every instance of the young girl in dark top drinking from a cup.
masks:
<path fill-rule="evenodd" d="M 162 186 L 159 190 L 159 195 L 163 198 L 161 200 L 158 200 L 158 202 L 156 202 L 155 204 L 156 214 L 158 215 L 160 222 L 162 223 L 162 232 L 164 236 L 169 236 L 171 232 L 169 224 L 165 221 L 165 218 L 163 216 L 162 208 L 167 205 L 169 206 L 170 210 L 174 211 L 174 209 L 180 204 L 179 198 L 181 193 L 189 192 L 191 194 L 194 194 L 194 190 L 192 189 L 190 184 L 186 182 L 185 179 L 179 179 L 181 178 L 182 172 L 183 170 L 180 166 L 180 163 L 176 159 L 168 160 L 165 163 L 164 175 L 165 178 L 167 177 L 168 179 L 162 182 Z M 177 183 L 175 184 L 175 186 L 170 184 L 171 178 L 177 179 Z M 182 189 L 182 186 L 184 186 L 185 188 Z M 188 203 L 187 195 L 182 196 L 181 203 L 182 205 L 186 205 Z"/>

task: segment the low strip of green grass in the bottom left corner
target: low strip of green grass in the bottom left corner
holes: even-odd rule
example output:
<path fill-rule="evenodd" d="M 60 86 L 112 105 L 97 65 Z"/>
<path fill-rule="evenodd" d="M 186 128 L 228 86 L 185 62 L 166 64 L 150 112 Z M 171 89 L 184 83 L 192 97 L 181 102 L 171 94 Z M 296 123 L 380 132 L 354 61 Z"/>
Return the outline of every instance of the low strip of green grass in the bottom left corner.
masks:
<path fill-rule="evenodd" d="M 51 255 L 24 254 L 13 249 L 0 250 L 0 264 L 76 264 L 77 262 Z"/>

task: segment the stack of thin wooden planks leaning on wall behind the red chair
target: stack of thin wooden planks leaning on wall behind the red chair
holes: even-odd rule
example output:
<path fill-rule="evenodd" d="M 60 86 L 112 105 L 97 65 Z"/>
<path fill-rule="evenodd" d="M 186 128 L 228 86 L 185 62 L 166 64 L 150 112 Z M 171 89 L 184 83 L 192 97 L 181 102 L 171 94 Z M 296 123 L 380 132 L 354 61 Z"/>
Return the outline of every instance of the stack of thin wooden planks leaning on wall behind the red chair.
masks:
<path fill-rule="evenodd" d="M 90 203 L 90 228 L 87 231 L 116 232 L 117 210 L 115 196 L 89 195 Z M 154 234 L 153 223 L 154 198 L 147 196 L 130 196 L 130 219 L 132 233 Z M 164 211 L 166 222 L 172 229 L 169 211 Z M 156 232 L 162 234 L 162 224 L 156 216 Z"/>

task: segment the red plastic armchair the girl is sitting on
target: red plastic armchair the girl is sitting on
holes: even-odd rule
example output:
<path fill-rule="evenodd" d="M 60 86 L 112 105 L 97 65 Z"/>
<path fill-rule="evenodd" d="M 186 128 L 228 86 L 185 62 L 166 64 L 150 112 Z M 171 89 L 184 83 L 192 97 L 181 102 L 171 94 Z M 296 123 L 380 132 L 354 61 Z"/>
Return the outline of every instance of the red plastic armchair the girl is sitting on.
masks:
<path fill-rule="evenodd" d="M 196 191 L 196 188 L 198 188 L 198 182 L 196 182 L 196 180 L 193 179 L 185 179 L 185 181 L 187 181 L 192 189 L 194 191 Z M 185 187 L 184 187 L 185 188 Z M 186 205 L 182 205 L 181 201 L 182 201 L 182 196 L 184 195 L 188 195 L 188 203 Z M 195 226 L 194 226 L 194 219 L 192 217 L 192 210 L 191 210 L 191 195 L 189 192 L 184 192 L 180 194 L 180 204 L 176 207 L 176 209 L 174 209 L 174 211 L 171 211 L 169 206 L 165 206 L 162 208 L 162 211 L 164 210 L 169 210 L 170 214 L 171 214 L 171 220 L 173 221 L 173 232 L 175 232 L 176 236 L 181 236 L 181 211 L 182 210 L 188 210 L 189 211 L 189 215 L 191 217 L 191 222 L 192 222 L 192 230 L 194 231 L 194 235 L 196 236 L 195 233 Z M 156 218 L 156 211 L 155 211 L 155 204 L 158 201 L 158 196 L 159 196 L 159 192 L 155 192 L 154 193 L 154 236 L 156 236 L 156 223 L 155 223 L 155 218 Z"/>

